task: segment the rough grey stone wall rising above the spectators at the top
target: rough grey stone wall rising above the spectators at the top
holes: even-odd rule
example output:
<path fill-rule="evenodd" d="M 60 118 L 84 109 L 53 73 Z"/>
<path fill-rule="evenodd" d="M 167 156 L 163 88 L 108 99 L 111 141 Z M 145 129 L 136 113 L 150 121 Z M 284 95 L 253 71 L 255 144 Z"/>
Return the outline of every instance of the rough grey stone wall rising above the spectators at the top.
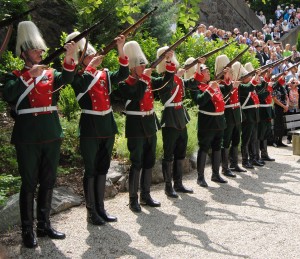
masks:
<path fill-rule="evenodd" d="M 261 30 L 262 23 L 255 13 L 242 0 L 202 0 L 200 22 L 217 28 L 241 32 Z"/>

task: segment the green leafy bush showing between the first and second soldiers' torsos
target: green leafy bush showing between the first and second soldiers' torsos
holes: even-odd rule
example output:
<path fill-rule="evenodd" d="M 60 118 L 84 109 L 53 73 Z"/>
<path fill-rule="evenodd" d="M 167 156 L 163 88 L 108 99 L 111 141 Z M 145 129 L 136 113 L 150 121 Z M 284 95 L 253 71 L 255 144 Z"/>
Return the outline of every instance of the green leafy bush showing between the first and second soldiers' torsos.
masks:
<path fill-rule="evenodd" d="M 60 90 L 58 106 L 62 115 L 66 117 L 68 121 L 77 118 L 80 107 L 70 85 L 67 85 Z"/>

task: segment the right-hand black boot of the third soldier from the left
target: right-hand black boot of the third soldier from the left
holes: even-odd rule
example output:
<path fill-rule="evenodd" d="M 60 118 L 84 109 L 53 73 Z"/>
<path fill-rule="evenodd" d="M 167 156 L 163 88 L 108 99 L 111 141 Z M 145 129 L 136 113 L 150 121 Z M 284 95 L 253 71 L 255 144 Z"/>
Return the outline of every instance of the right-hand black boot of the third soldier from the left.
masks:
<path fill-rule="evenodd" d="M 160 207 L 160 202 L 153 200 L 150 195 L 151 182 L 152 182 L 152 168 L 143 169 L 141 180 L 140 180 L 140 187 L 141 187 L 140 203 L 141 205 L 148 205 L 150 207 Z"/>

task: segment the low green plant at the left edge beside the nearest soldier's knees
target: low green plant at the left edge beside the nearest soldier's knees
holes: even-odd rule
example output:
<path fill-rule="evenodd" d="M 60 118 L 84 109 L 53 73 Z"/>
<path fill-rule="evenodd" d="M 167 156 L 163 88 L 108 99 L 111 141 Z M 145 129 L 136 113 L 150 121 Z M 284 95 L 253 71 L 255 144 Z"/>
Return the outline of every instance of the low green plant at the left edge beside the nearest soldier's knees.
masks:
<path fill-rule="evenodd" d="M 21 186 L 21 177 L 15 177 L 10 174 L 0 175 L 0 206 L 5 205 L 7 197 L 19 192 Z"/>

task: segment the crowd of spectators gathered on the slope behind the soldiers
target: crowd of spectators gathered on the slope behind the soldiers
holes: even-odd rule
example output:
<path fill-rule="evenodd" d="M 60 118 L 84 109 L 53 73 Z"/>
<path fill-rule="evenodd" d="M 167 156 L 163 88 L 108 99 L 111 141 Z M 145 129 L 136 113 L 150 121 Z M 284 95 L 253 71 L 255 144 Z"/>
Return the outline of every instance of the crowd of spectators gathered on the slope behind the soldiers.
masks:
<path fill-rule="evenodd" d="M 241 33 L 238 28 L 234 28 L 233 31 L 226 31 L 213 25 L 200 24 L 193 37 L 203 37 L 205 41 L 235 39 L 239 44 L 247 44 L 250 46 L 249 51 L 255 53 L 261 66 L 290 55 L 292 55 L 291 64 L 300 61 L 300 53 L 297 51 L 296 45 L 286 44 L 282 46 L 279 41 L 282 35 L 289 32 L 291 28 L 300 25 L 300 8 L 295 9 L 294 5 L 291 4 L 282 10 L 279 5 L 275 11 L 275 23 L 272 19 L 266 23 L 262 11 L 260 11 L 259 19 L 263 23 L 261 31 L 252 30 L 250 33 Z M 280 67 L 274 68 L 273 74 L 283 72 L 287 67 L 288 65 L 283 63 Z M 300 66 L 298 72 L 300 73 Z"/>

